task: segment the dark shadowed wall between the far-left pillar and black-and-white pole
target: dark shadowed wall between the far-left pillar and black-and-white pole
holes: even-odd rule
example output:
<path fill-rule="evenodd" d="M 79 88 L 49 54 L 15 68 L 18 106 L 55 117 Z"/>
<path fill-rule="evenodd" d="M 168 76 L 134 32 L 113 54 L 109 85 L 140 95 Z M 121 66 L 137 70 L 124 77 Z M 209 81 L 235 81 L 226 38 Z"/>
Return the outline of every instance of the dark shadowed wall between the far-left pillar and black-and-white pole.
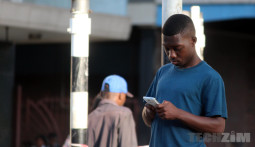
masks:
<path fill-rule="evenodd" d="M 17 144 L 28 147 L 38 135 L 56 133 L 63 144 L 69 134 L 70 48 L 70 43 L 16 46 L 15 89 L 21 92 L 13 99 L 20 98 L 22 111 L 21 121 L 14 122 L 20 134 L 12 142 L 19 137 Z"/>

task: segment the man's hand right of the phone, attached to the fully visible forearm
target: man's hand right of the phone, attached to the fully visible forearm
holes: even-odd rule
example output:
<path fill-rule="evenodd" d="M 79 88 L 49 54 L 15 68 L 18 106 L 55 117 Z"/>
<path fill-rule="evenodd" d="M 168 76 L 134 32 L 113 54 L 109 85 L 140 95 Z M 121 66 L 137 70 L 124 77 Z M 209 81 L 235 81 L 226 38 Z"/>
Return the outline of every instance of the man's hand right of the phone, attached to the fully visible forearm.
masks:
<path fill-rule="evenodd" d="M 156 112 L 161 119 L 168 120 L 177 119 L 179 115 L 179 109 L 169 101 L 164 101 L 162 104 L 158 104 Z"/>

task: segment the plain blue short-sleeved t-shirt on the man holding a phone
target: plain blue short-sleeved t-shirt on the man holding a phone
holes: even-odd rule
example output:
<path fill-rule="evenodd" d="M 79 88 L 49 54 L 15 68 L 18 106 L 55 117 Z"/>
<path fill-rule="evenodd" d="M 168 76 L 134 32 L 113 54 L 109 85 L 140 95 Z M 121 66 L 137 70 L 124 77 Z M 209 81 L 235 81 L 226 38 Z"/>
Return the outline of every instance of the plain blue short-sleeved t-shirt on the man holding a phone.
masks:
<path fill-rule="evenodd" d="M 157 72 L 146 96 L 159 103 L 172 102 L 177 108 L 198 116 L 227 118 L 225 88 L 221 76 L 206 62 L 186 69 L 169 63 Z M 151 125 L 150 147 L 205 147 L 193 141 L 192 128 L 179 120 L 162 120 L 157 115 Z"/>

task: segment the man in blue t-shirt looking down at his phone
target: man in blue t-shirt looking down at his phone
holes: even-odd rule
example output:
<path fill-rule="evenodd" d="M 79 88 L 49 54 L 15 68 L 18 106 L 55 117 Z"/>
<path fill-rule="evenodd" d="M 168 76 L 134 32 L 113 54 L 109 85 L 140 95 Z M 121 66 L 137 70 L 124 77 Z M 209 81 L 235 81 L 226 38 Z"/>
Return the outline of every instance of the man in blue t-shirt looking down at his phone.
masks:
<path fill-rule="evenodd" d="M 146 94 L 160 103 L 146 104 L 143 120 L 151 126 L 150 147 L 205 147 L 194 134 L 222 133 L 227 106 L 221 76 L 198 57 L 192 20 L 168 18 L 163 46 L 171 63 L 162 66 Z"/>

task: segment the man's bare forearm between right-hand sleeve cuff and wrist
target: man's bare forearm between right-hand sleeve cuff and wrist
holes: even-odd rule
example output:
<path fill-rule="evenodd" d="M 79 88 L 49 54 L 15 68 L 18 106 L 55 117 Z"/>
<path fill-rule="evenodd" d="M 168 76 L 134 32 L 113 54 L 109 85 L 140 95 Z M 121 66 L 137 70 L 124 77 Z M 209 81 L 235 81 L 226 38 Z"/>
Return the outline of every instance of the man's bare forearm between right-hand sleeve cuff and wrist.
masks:
<path fill-rule="evenodd" d="M 225 119 L 222 117 L 197 116 L 179 109 L 177 119 L 199 132 L 222 133 L 225 129 Z"/>

